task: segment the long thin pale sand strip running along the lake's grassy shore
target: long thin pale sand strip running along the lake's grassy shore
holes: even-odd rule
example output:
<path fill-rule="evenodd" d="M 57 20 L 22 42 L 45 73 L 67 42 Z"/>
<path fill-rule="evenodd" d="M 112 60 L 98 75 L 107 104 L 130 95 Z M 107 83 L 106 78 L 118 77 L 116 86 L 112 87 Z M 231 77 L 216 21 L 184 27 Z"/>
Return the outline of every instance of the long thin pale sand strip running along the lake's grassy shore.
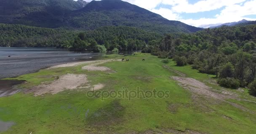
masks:
<path fill-rule="evenodd" d="M 75 67 L 75 66 L 78 66 L 81 64 L 91 64 L 91 63 L 103 64 L 103 63 L 111 62 L 111 61 L 122 61 L 122 59 L 107 59 L 107 60 L 94 60 L 94 61 L 85 61 L 85 62 L 73 62 L 73 63 L 67 63 L 67 64 L 59 64 L 56 66 L 49 67 L 48 69 L 59 68 L 59 67 Z"/>

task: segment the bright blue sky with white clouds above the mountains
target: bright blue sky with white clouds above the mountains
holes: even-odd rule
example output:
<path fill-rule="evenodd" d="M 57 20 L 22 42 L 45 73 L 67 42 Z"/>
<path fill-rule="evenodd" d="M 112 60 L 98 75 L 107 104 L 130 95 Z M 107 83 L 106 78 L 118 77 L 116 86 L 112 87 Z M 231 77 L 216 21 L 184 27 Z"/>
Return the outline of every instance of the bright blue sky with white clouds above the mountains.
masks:
<path fill-rule="evenodd" d="M 91 0 L 85 0 L 91 2 Z M 223 23 L 256 21 L 256 0 L 123 0 L 168 20 L 208 28 Z"/>

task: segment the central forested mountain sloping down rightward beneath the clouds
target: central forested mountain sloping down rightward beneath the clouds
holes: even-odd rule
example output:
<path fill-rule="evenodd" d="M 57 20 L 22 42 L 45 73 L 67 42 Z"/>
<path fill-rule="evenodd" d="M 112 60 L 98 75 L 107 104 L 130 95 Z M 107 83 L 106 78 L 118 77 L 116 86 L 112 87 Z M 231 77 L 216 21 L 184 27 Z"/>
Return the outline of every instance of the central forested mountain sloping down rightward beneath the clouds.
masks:
<path fill-rule="evenodd" d="M 74 12 L 69 22 L 77 28 L 133 26 L 158 33 L 189 33 L 201 30 L 179 21 L 169 21 L 156 13 L 121 0 L 92 1 L 85 8 Z"/>

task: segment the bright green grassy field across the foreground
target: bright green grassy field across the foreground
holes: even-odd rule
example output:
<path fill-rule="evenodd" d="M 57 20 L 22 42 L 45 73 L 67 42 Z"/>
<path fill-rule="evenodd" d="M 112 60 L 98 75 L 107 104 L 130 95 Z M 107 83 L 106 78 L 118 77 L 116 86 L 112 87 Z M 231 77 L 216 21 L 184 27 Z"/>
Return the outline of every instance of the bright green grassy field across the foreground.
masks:
<path fill-rule="evenodd" d="M 103 59 L 121 59 L 120 55 L 106 55 Z M 243 92 L 224 89 L 212 83 L 212 75 L 198 73 L 190 66 L 176 67 L 169 59 L 164 63 L 152 55 L 136 54 L 125 57 L 130 62 L 108 62 L 101 64 L 116 73 L 82 70 L 77 67 L 62 67 L 21 75 L 17 80 L 27 80 L 21 88 L 31 88 L 41 82 L 53 81 L 53 76 L 64 74 L 86 74 L 90 83 L 106 85 L 104 90 L 163 90 L 168 98 L 88 98 L 88 89 L 65 90 L 54 95 L 34 96 L 18 93 L 0 98 L 0 120 L 13 121 L 16 125 L 1 134 L 133 134 L 163 133 L 189 134 L 256 134 L 256 103 L 227 100 L 243 105 L 243 111 L 229 103 L 198 95 L 195 99 L 171 76 L 175 72 L 163 65 L 195 78 L 216 90 L 237 93 L 241 99 L 256 101 Z M 145 62 L 141 60 L 145 59 Z M 196 101 L 195 101 L 196 100 Z M 197 133 L 196 133 L 197 134 Z"/>

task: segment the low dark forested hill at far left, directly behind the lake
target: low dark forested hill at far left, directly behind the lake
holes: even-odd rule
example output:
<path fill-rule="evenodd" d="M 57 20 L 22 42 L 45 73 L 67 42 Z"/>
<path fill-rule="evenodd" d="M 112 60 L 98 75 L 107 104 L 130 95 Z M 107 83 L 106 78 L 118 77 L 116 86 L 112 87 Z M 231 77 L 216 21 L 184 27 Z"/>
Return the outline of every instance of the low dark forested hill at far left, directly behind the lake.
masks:
<path fill-rule="evenodd" d="M 0 46 L 53 47 L 73 40 L 77 31 L 0 23 Z"/>

